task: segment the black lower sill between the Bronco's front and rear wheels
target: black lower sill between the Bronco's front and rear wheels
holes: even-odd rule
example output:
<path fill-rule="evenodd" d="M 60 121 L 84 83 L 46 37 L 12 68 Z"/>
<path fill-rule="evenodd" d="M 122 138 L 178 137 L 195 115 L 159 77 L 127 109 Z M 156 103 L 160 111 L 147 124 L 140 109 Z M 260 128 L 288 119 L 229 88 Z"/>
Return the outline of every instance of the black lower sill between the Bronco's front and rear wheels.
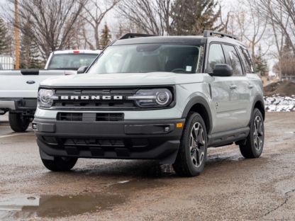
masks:
<path fill-rule="evenodd" d="M 207 147 L 221 147 L 238 140 L 243 140 L 249 134 L 250 128 L 240 128 L 236 130 L 228 130 L 226 132 L 218 132 L 213 135 L 208 135 Z"/>

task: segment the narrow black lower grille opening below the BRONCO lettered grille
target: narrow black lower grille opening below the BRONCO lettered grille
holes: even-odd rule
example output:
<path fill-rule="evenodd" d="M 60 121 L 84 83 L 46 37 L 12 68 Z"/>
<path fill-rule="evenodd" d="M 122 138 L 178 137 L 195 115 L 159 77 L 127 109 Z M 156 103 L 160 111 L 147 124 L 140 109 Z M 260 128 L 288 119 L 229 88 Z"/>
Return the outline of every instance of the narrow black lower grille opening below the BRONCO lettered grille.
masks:
<path fill-rule="evenodd" d="M 65 121 L 123 121 L 123 113 L 57 113 L 57 120 Z"/>

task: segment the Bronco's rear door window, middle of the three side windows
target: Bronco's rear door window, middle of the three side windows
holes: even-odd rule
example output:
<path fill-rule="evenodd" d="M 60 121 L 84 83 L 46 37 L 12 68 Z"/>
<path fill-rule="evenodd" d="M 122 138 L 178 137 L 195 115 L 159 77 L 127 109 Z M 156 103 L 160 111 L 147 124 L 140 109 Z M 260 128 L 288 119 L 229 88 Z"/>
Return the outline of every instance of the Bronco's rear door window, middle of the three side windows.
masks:
<path fill-rule="evenodd" d="M 224 49 L 226 50 L 227 64 L 233 67 L 233 74 L 243 75 L 242 65 L 240 64 L 240 58 L 238 56 L 238 52 L 235 50 L 235 47 L 224 45 Z"/>

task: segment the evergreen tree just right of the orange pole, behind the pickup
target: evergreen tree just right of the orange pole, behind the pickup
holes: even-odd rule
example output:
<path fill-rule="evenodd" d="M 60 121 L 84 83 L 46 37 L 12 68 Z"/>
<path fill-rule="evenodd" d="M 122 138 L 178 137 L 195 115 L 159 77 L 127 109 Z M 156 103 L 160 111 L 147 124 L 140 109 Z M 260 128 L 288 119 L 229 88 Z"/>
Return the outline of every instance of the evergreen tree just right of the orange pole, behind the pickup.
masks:
<path fill-rule="evenodd" d="M 20 42 L 20 69 L 40 69 L 42 68 L 42 64 L 38 58 L 38 47 L 35 42 L 33 42 L 32 38 L 29 37 L 29 33 L 32 31 L 32 29 L 30 28 L 29 23 L 26 23 L 25 26 L 26 33 L 21 35 Z"/>

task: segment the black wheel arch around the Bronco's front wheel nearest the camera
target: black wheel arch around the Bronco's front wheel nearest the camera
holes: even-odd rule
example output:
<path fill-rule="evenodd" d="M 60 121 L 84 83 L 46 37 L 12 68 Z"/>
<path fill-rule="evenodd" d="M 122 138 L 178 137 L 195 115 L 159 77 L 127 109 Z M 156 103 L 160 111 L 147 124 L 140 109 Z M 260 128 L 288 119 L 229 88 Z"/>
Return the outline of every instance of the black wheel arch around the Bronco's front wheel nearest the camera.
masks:
<path fill-rule="evenodd" d="M 213 127 L 212 115 L 211 115 L 210 106 L 208 105 L 206 99 L 201 96 L 196 96 L 194 98 L 191 98 L 189 103 L 187 103 L 187 106 L 184 108 L 184 112 L 182 113 L 182 118 L 187 118 L 187 115 L 190 111 L 194 111 L 196 113 L 199 113 L 199 115 L 201 115 L 206 125 L 207 136 L 210 135 L 212 127 Z"/>

